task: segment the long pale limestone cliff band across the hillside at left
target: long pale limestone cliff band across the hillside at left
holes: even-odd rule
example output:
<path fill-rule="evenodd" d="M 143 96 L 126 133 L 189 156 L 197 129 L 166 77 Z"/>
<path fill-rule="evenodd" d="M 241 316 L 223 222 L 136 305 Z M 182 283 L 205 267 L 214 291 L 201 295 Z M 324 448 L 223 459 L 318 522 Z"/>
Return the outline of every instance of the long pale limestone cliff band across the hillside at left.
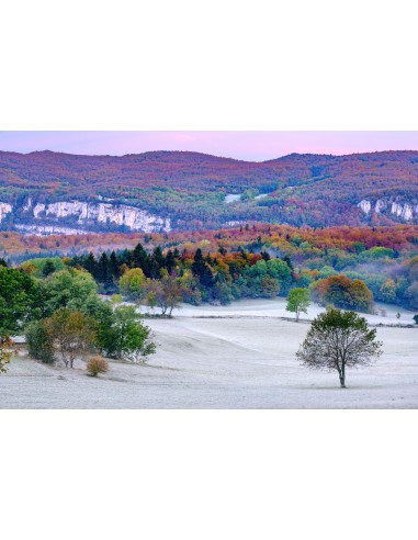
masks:
<path fill-rule="evenodd" d="M 0 203 L 0 221 L 4 213 L 12 212 L 12 210 L 10 204 Z M 89 225 L 113 224 L 144 233 L 171 230 L 170 218 L 159 217 L 145 210 L 125 204 L 87 203 L 82 201 L 44 204 L 34 203 L 29 199 L 21 210 L 25 222 L 27 218 L 32 218 L 31 224 L 36 226 L 50 223 L 64 225 L 66 221 L 70 220 L 71 223 L 76 221 L 77 225 L 83 228 L 89 228 Z"/>

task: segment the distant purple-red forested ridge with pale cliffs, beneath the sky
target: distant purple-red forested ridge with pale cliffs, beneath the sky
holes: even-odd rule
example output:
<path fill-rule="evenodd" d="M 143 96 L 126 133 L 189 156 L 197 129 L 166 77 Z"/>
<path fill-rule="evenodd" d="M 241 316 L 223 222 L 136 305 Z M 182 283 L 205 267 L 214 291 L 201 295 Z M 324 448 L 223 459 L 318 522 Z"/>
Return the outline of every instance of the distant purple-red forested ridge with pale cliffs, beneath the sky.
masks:
<path fill-rule="evenodd" d="M 190 151 L 0 151 L 3 229 L 158 232 L 237 222 L 418 223 L 418 151 L 292 154 L 264 162 Z"/>

